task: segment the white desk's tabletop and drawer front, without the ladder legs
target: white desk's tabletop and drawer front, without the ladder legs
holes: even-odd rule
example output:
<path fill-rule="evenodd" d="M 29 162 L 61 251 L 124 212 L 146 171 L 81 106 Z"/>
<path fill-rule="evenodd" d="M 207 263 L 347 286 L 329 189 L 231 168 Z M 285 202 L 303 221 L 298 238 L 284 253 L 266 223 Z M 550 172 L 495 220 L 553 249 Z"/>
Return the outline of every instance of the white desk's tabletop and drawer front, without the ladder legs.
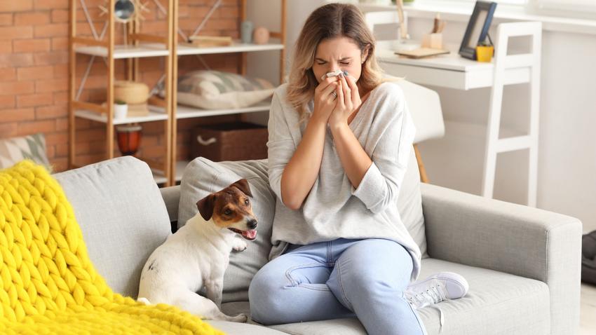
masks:
<path fill-rule="evenodd" d="M 494 85 L 494 63 L 482 63 L 461 57 L 457 50 L 448 55 L 412 59 L 395 55 L 393 50 L 377 50 L 381 67 L 392 76 L 405 77 L 421 85 L 470 90 Z M 506 69 L 503 84 L 529 82 L 527 67 Z"/>

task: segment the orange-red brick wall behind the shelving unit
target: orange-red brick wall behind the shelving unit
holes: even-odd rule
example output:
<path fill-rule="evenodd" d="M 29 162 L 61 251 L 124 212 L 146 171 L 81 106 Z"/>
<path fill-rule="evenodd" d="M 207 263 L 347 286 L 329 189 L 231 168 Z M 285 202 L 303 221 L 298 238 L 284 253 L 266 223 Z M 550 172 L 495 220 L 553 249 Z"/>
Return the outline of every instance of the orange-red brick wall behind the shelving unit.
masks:
<path fill-rule="evenodd" d="M 167 1 L 159 0 L 165 8 Z M 141 32 L 165 34 L 165 15 L 153 0 L 147 3 Z M 209 11 L 213 1 L 180 0 L 179 22 L 190 34 Z M 55 170 L 67 168 L 68 156 L 68 36 L 69 0 L 0 0 L 0 138 L 43 132 L 47 154 Z M 79 0 L 77 3 L 78 36 L 92 36 Z M 105 21 L 99 5 L 102 0 L 86 0 L 90 17 L 99 34 Z M 240 4 L 224 0 L 200 34 L 239 35 Z M 116 43 L 123 40 L 122 25 L 116 25 Z M 77 56 L 76 82 L 79 83 L 90 57 Z M 212 69 L 236 71 L 238 55 L 206 55 L 203 59 Z M 153 87 L 163 74 L 165 57 L 140 61 L 140 80 Z M 179 74 L 203 69 L 196 56 L 180 57 Z M 116 78 L 124 78 L 125 61 L 116 61 Z M 93 63 L 80 100 L 104 102 L 107 67 L 101 58 Z M 78 85 L 78 84 L 77 84 Z M 187 158 L 190 131 L 199 123 L 229 121 L 237 116 L 199 118 L 178 121 L 178 158 Z M 163 156 L 163 122 L 142 123 L 143 137 L 138 155 Z M 105 159 L 105 126 L 103 123 L 77 118 L 76 163 L 86 165 Z M 119 156 L 116 148 L 115 156 Z"/>

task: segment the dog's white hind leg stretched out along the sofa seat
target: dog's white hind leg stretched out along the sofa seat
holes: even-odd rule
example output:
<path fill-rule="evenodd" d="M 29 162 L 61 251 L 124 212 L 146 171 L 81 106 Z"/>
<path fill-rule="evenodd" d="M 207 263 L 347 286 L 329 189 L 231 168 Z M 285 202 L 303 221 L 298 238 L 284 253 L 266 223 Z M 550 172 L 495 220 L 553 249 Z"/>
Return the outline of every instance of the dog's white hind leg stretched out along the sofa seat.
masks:
<path fill-rule="evenodd" d="M 215 306 L 213 301 L 190 290 L 181 290 L 178 292 L 174 305 L 206 320 L 225 320 L 231 322 L 246 322 L 248 320 L 246 314 L 238 314 L 236 316 L 225 315 Z"/>

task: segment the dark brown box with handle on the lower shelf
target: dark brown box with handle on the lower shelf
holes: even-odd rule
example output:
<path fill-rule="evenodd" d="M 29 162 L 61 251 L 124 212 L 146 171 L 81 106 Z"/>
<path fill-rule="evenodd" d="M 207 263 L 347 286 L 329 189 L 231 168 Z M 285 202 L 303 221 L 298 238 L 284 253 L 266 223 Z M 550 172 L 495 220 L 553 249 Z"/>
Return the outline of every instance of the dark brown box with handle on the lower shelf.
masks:
<path fill-rule="evenodd" d="M 215 162 L 267 158 L 267 128 L 254 123 L 233 122 L 195 128 L 191 155 Z"/>

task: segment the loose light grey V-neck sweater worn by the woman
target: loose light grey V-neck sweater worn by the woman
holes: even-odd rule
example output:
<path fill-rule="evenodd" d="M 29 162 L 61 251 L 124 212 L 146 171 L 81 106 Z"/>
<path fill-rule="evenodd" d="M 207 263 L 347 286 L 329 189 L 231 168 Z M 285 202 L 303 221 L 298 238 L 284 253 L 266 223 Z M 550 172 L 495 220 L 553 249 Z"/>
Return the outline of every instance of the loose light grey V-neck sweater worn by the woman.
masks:
<path fill-rule="evenodd" d="M 395 83 L 381 83 L 349 125 L 372 159 L 358 189 L 348 179 L 327 127 L 318 177 L 299 210 L 290 210 L 281 201 L 281 175 L 306 128 L 288 104 L 286 90 L 287 84 L 276 89 L 269 112 L 269 182 L 278 197 L 269 259 L 282 254 L 288 242 L 306 245 L 337 238 L 386 238 L 400 243 L 412 255 L 411 280 L 416 280 L 420 249 L 403 224 L 397 205 L 416 132 L 401 88 Z M 312 101 L 308 107 L 312 112 Z"/>

